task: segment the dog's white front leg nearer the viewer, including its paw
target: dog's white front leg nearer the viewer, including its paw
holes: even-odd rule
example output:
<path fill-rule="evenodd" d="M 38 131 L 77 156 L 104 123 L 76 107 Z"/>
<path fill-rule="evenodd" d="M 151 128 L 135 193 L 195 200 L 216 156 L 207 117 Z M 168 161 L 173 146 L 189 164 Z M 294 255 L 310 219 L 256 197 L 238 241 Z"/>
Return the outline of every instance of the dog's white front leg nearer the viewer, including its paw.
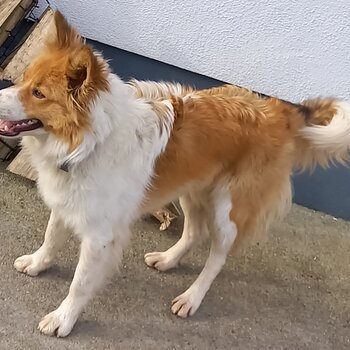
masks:
<path fill-rule="evenodd" d="M 104 235 L 83 237 L 79 262 L 67 297 L 39 323 L 39 330 L 57 337 L 67 336 L 83 308 L 102 285 L 106 274 L 117 267 L 122 247 Z"/>

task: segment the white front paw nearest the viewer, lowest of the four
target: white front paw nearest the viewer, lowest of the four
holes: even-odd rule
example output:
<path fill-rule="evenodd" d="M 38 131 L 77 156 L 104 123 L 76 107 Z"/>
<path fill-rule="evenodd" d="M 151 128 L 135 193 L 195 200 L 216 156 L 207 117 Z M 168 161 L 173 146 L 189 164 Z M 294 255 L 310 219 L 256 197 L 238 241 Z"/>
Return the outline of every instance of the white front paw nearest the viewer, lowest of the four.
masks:
<path fill-rule="evenodd" d="M 74 327 L 77 317 L 64 310 L 57 310 L 49 313 L 39 323 L 38 329 L 46 335 L 66 337 Z"/>

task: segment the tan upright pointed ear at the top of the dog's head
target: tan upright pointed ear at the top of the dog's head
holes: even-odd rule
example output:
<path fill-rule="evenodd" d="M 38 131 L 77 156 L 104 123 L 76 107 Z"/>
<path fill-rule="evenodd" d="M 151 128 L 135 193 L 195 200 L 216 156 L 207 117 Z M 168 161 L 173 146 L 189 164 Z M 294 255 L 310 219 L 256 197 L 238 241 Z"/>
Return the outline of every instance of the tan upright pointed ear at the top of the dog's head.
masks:
<path fill-rule="evenodd" d="M 54 31 L 48 38 L 48 44 L 54 44 L 59 48 L 72 48 L 83 44 L 78 32 L 68 24 L 61 12 L 54 13 Z"/>

